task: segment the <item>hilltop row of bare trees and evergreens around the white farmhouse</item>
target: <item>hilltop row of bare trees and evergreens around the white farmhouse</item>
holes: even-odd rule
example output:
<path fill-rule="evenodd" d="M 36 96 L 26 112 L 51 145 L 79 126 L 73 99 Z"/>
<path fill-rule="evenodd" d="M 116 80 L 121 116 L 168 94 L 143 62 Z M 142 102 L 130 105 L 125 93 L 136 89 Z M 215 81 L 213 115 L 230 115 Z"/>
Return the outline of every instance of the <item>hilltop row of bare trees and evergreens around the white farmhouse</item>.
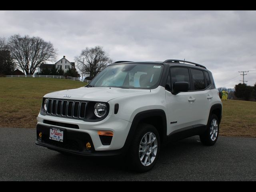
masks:
<path fill-rule="evenodd" d="M 10 75 L 15 68 L 24 74 L 32 75 L 38 70 L 42 62 L 55 61 L 57 49 L 51 42 L 40 37 L 20 36 L 15 34 L 8 39 L 0 38 L 0 75 Z M 86 47 L 75 57 L 78 69 L 92 80 L 102 69 L 112 63 L 112 59 L 102 46 Z M 63 70 L 44 69 L 37 74 L 79 76 L 74 69 Z"/>

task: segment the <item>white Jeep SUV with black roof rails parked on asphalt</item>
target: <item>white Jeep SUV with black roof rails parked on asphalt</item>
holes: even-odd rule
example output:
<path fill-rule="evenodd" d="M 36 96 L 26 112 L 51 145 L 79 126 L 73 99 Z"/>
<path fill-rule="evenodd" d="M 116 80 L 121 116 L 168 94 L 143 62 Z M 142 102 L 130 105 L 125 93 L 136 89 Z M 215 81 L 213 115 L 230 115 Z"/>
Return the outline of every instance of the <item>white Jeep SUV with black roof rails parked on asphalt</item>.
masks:
<path fill-rule="evenodd" d="M 150 170 L 160 146 L 199 135 L 218 139 L 222 102 L 212 73 L 183 60 L 115 62 L 87 86 L 46 94 L 36 144 L 83 156 L 126 154 Z"/>

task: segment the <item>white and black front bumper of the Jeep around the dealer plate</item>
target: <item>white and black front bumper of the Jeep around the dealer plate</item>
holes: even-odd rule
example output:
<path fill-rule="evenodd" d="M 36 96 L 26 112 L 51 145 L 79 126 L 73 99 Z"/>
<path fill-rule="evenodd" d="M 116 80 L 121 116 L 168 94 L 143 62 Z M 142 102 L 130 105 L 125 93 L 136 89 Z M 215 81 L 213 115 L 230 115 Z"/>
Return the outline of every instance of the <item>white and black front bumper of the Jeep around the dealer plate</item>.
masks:
<path fill-rule="evenodd" d="M 55 116 L 43 116 L 41 114 L 37 117 L 37 140 L 36 144 L 45 146 L 52 150 L 71 152 L 74 154 L 87 156 L 109 156 L 119 154 L 124 147 L 128 132 L 130 130 L 131 122 L 107 116 L 100 122 L 84 122 L 82 120 L 66 119 Z M 45 122 L 58 122 L 59 124 L 50 125 Z M 65 124 L 74 124 L 78 128 L 64 127 Z M 47 139 L 50 133 L 50 127 L 64 129 L 67 136 L 67 142 L 60 144 L 60 142 Z M 112 131 L 114 133 L 110 145 L 102 144 L 99 130 Z M 42 139 L 38 137 L 39 132 L 42 132 Z M 86 150 L 86 142 L 92 144 L 90 151 Z"/>

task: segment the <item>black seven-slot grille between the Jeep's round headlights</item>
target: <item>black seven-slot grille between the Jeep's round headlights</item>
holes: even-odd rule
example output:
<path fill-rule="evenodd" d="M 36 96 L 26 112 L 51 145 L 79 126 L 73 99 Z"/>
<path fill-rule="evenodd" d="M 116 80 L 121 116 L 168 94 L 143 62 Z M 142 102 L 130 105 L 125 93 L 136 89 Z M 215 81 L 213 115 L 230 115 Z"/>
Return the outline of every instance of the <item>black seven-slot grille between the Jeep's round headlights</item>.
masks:
<path fill-rule="evenodd" d="M 48 99 L 47 114 L 69 117 L 69 118 L 85 118 L 86 102 Z"/>

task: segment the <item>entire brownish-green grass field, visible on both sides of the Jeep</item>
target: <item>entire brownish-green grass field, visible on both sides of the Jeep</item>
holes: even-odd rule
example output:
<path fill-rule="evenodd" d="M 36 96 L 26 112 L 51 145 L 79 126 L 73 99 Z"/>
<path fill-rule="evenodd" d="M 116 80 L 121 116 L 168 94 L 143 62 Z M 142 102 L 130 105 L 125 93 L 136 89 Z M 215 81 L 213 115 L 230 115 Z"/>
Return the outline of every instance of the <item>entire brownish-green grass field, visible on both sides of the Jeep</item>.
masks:
<path fill-rule="evenodd" d="M 52 78 L 0 78 L 0 127 L 35 128 L 44 94 L 87 83 Z M 256 137 L 256 102 L 224 100 L 220 135 Z"/>

